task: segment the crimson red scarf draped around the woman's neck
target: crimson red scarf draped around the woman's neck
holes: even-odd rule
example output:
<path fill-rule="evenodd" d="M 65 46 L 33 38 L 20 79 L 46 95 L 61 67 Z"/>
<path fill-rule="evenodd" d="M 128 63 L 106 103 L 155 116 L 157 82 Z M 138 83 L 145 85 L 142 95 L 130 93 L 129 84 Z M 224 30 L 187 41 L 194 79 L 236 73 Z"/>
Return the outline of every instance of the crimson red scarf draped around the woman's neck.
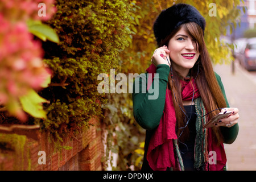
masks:
<path fill-rule="evenodd" d="M 147 68 L 147 72 L 152 73 L 153 80 L 153 73 L 156 73 L 155 65 L 151 64 L 150 67 Z M 148 81 L 147 90 L 150 88 L 152 80 Z M 195 99 L 200 96 L 196 84 L 192 85 L 192 83 L 193 79 L 189 82 L 181 81 L 183 88 L 183 91 L 181 92 L 181 97 L 183 100 L 192 100 L 194 89 L 195 94 L 193 98 Z M 152 134 L 147 151 L 148 164 L 154 171 L 165 171 L 167 167 L 175 168 L 175 166 L 177 166 L 173 144 L 173 140 L 177 139 L 175 125 L 176 115 L 174 104 L 172 102 L 172 94 L 171 90 L 166 89 L 166 101 L 164 105 L 163 115 L 160 119 L 159 126 L 155 129 L 154 134 Z M 210 169 L 220 170 L 226 164 L 226 158 L 224 158 L 225 152 L 223 144 L 221 146 L 221 148 L 217 147 L 216 144 L 212 142 L 212 134 L 211 131 L 208 129 L 208 151 L 214 150 L 217 153 L 217 165 L 210 165 Z M 218 154 L 221 155 L 218 156 Z M 221 166 L 218 165 L 219 160 L 221 161 Z M 224 166 L 222 164 L 224 164 Z"/>

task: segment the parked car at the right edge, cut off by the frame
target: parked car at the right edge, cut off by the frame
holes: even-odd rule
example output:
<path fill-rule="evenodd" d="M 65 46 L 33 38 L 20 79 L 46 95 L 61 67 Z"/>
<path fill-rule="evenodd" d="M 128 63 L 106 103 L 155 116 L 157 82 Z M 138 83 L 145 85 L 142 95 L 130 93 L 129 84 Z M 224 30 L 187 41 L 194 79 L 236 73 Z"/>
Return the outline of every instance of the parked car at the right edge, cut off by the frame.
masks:
<path fill-rule="evenodd" d="M 256 38 L 246 39 L 241 43 L 240 50 L 235 55 L 243 68 L 248 71 L 256 70 Z"/>

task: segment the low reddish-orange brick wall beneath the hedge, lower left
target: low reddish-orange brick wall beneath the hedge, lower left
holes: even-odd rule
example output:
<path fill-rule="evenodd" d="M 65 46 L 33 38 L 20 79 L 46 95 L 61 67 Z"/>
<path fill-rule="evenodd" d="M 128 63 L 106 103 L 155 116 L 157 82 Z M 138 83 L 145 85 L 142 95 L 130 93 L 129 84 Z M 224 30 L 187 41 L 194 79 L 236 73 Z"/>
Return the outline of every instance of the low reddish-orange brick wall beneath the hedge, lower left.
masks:
<path fill-rule="evenodd" d="M 71 149 L 57 150 L 50 142 L 49 133 L 39 133 L 38 140 L 26 137 L 23 151 L 1 149 L 0 146 L 0 170 L 102 170 L 101 158 L 104 155 L 101 140 L 100 121 L 91 119 L 89 129 L 84 129 L 75 138 L 66 137 L 62 146 Z M 46 152 L 46 164 L 39 164 L 39 151 Z"/>

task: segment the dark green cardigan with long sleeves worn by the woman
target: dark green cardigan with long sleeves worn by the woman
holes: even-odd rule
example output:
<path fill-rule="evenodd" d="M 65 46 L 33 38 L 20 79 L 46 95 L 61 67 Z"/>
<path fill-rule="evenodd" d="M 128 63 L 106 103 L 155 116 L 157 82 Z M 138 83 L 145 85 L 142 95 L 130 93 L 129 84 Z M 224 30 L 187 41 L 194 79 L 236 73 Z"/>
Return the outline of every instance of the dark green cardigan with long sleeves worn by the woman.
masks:
<path fill-rule="evenodd" d="M 147 73 L 145 73 L 146 77 L 137 77 L 135 78 L 133 85 L 133 112 L 134 118 L 139 123 L 141 127 L 144 129 L 151 131 L 154 130 L 160 122 L 160 118 L 162 117 L 164 110 L 164 103 L 166 98 L 166 88 L 168 82 L 168 75 L 170 73 L 170 68 L 168 65 L 160 64 L 156 67 L 156 73 L 159 75 L 159 95 L 155 100 L 148 100 L 148 95 L 153 95 L 154 93 L 142 92 L 146 90 L 147 84 Z M 221 82 L 221 78 L 217 73 L 215 73 L 218 84 L 222 90 L 222 93 L 225 97 L 227 107 L 229 107 L 228 101 L 226 99 L 226 94 L 224 90 L 224 86 Z M 138 80 L 139 79 L 139 80 Z M 152 86 L 154 88 L 154 79 L 152 82 Z M 135 93 L 135 88 L 139 88 L 139 93 Z M 224 137 L 224 143 L 231 144 L 236 140 L 238 135 L 238 124 L 232 127 L 220 127 L 221 133 Z M 149 136 L 149 135 L 148 135 Z M 146 140 L 149 140 L 146 135 Z"/>

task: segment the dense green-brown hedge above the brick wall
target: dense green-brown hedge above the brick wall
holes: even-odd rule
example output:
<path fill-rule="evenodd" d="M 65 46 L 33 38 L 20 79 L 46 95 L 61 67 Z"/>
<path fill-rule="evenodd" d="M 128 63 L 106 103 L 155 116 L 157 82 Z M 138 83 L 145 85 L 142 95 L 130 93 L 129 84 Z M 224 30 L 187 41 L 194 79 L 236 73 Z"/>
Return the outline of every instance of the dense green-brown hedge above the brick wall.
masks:
<path fill-rule="evenodd" d="M 44 42 L 44 62 L 53 72 L 52 82 L 40 94 L 47 119 L 35 119 L 59 140 L 72 135 L 89 119 L 101 117 L 104 95 L 97 91 L 97 76 L 118 65 L 118 53 L 128 46 L 127 1 L 56 1 L 57 12 L 47 22 L 60 43 Z"/>

